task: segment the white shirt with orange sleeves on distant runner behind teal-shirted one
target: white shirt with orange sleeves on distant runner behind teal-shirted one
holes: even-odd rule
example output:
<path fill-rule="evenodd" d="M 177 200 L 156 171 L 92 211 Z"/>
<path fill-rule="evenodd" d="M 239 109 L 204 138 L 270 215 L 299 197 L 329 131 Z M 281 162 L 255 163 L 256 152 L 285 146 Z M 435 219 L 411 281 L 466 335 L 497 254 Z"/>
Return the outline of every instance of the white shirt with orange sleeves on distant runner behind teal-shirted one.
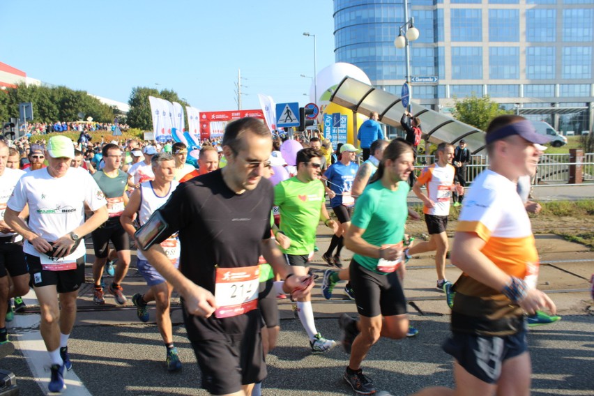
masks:
<path fill-rule="evenodd" d="M 440 167 L 434 163 L 422 170 L 417 178 L 417 183 L 427 186 L 427 197 L 435 203 L 433 208 L 423 205 L 423 213 L 438 216 L 450 214 L 450 198 L 454 188 L 455 174 L 456 169 L 450 164 Z"/>

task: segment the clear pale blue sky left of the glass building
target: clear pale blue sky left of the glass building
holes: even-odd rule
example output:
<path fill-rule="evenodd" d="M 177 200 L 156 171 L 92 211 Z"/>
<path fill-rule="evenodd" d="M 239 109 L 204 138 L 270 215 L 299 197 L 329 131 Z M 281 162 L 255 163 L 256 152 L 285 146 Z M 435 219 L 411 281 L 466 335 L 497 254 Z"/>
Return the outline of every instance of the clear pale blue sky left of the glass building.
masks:
<path fill-rule="evenodd" d="M 134 86 L 172 89 L 203 111 L 309 102 L 334 58 L 332 0 L 1 0 L 0 61 L 43 82 L 128 102 Z M 245 79 L 243 79 L 245 77 Z M 155 85 L 159 84 L 158 86 Z M 303 96 L 307 93 L 308 96 Z"/>

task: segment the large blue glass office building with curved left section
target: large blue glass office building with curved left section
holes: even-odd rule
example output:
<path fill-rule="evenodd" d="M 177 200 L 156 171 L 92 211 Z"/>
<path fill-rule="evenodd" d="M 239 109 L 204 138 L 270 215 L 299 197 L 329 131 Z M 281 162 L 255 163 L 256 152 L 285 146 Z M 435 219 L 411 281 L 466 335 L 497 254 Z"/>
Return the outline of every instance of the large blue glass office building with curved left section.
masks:
<path fill-rule="evenodd" d="M 409 0 L 420 31 L 410 43 L 413 101 L 450 111 L 455 98 L 489 95 L 557 130 L 593 130 L 594 0 Z M 402 0 L 334 0 L 335 59 L 399 95 Z"/>

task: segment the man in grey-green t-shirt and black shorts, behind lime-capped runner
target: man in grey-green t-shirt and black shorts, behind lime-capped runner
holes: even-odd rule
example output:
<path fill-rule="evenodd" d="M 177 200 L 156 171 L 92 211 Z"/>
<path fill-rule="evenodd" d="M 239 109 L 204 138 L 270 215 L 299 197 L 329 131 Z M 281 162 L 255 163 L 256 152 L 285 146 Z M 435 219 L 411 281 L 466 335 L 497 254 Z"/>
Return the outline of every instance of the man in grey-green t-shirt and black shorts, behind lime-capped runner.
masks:
<path fill-rule="evenodd" d="M 128 273 L 128 267 L 130 266 L 130 239 L 120 224 L 120 215 L 124 206 L 128 204 L 128 195 L 125 193 L 128 188 L 128 175 L 119 169 L 122 160 L 119 146 L 112 143 L 106 144 L 102 148 L 102 155 L 105 167 L 95 172 L 93 178 L 107 199 L 109 219 L 91 233 L 93 249 L 95 250 L 93 303 L 97 305 L 105 304 L 101 279 L 103 277 L 103 268 L 108 261 L 109 241 L 112 241 L 117 253 L 118 264 L 115 271 L 112 270 L 113 273 L 109 273 L 109 269 L 107 269 L 109 275 L 114 277 L 112 284 L 109 285 L 109 293 L 114 295 L 116 303 L 124 305 L 126 298 L 123 295 L 121 282 Z"/>

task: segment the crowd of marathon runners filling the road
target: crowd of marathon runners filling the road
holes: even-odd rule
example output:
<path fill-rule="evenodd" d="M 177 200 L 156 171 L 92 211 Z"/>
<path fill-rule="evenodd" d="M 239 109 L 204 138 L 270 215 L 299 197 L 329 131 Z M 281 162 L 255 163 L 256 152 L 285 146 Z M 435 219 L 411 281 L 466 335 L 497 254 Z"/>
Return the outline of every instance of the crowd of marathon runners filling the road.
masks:
<path fill-rule="evenodd" d="M 279 296 L 296 302 L 312 353 L 337 344 L 317 331 L 311 301 L 316 275 L 309 266 L 323 223 L 332 239 L 322 259 L 332 268 L 323 273 L 322 294 L 332 298 L 336 284 L 346 281 L 358 312 L 338 323 L 340 344 L 350 354 L 344 381 L 356 393 L 376 392 L 361 366 L 380 337 L 418 334 L 406 315 L 406 262 L 435 251 L 436 287 L 452 308 L 452 335 L 443 348 L 455 358 L 457 386 L 464 386 L 419 395 L 526 394 L 525 314 L 544 323 L 560 319 L 540 312 L 556 308 L 535 288 L 538 253 L 526 210 L 538 208 L 517 192 L 518 179 L 534 174 L 547 138 L 519 116 L 494 119 L 486 135 L 489 169 L 463 201 L 455 163 L 464 161 L 463 143 L 459 150 L 439 144 L 435 163 L 416 177 L 413 128 L 420 121 L 412 120 L 412 142 L 360 136 L 367 146 L 361 165 L 352 144 L 337 148 L 333 162 L 317 137 L 289 165 L 273 151 L 266 125 L 251 118 L 229 123 L 220 149 L 204 144 L 198 169 L 185 163 L 185 144 L 165 150 L 135 139 L 102 144 L 96 167 L 85 169 L 82 147 L 64 136 L 29 146 L 29 165 L 19 169 L 18 152 L 0 141 L 0 312 L 7 312 L 0 316 L 0 343 L 8 342 L 10 298 L 18 311 L 20 296 L 33 287 L 51 360 L 49 390 L 66 387 L 64 376 L 73 367 L 68 338 L 84 283 L 82 242 L 90 235 L 95 304 L 105 304 L 107 291 L 124 305 L 121 284 L 135 264 L 146 291 L 132 296 L 132 304 L 146 322 L 147 304 L 155 302 L 167 370 L 183 364 L 169 315 L 176 290 L 201 386 L 213 395 L 261 395 L 266 354 L 280 331 Z M 373 113 L 370 121 L 376 122 Z M 290 174 L 286 180 L 273 177 L 278 167 Z M 420 218 L 407 204 L 410 190 L 422 200 L 429 241 L 413 243 L 404 232 L 407 220 Z M 451 248 L 452 264 L 464 271 L 456 282 L 445 276 L 452 193 L 462 202 Z M 354 253 L 348 266 L 341 261 L 343 246 Z M 104 273 L 112 277 L 109 284 Z"/>

